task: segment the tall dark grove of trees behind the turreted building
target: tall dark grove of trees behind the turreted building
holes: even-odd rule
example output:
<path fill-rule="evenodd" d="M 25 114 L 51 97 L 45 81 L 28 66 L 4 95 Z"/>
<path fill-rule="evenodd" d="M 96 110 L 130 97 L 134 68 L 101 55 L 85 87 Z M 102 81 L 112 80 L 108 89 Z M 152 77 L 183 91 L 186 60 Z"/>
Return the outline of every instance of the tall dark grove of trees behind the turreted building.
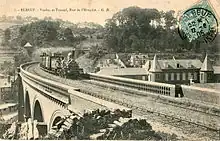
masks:
<path fill-rule="evenodd" d="M 105 25 L 107 47 L 116 52 L 195 51 L 207 48 L 199 42 L 182 40 L 174 11 L 128 7 Z M 213 49 L 210 49 L 213 50 Z"/>

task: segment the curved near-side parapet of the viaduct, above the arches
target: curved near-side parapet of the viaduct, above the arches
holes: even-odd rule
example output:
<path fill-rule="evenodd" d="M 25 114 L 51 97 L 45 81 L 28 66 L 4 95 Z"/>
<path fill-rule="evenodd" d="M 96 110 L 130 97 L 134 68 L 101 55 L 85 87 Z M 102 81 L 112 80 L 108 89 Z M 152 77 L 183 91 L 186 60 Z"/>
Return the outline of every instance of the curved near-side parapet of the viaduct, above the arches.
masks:
<path fill-rule="evenodd" d="M 48 80 L 48 79 L 42 78 L 42 77 L 34 75 L 33 73 L 30 73 L 26 70 L 31 65 L 37 64 L 37 63 L 38 62 L 31 62 L 31 63 L 26 63 L 26 64 L 21 65 L 20 74 L 21 74 L 23 81 L 27 81 L 28 84 L 34 85 L 33 88 L 37 87 L 38 90 L 44 91 L 43 93 L 46 93 L 46 94 L 44 94 L 46 97 L 48 97 L 50 99 L 52 97 L 53 99 L 59 100 L 63 104 L 68 105 L 68 107 L 67 107 L 68 109 L 69 109 L 69 105 L 71 105 L 71 96 L 77 96 L 79 98 L 82 98 L 82 99 L 85 99 L 88 101 L 92 101 L 98 105 L 102 105 L 102 106 L 108 107 L 110 109 L 117 107 L 119 109 L 130 110 L 129 108 L 126 108 L 124 106 L 120 106 L 118 104 L 111 103 L 111 102 L 84 94 L 82 92 L 79 92 L 80 91 L 79 88 L 74 88 L 72 86 L 61 84 L 61 83 L 55 82 L 53 80 Z M 51 92 L 49 92 L 49 91 L 51 91 Z M 73 112 L 78 113 L 77 111 L 74 111 L 74 109 L 71 109 L 71 110 Z"/>

